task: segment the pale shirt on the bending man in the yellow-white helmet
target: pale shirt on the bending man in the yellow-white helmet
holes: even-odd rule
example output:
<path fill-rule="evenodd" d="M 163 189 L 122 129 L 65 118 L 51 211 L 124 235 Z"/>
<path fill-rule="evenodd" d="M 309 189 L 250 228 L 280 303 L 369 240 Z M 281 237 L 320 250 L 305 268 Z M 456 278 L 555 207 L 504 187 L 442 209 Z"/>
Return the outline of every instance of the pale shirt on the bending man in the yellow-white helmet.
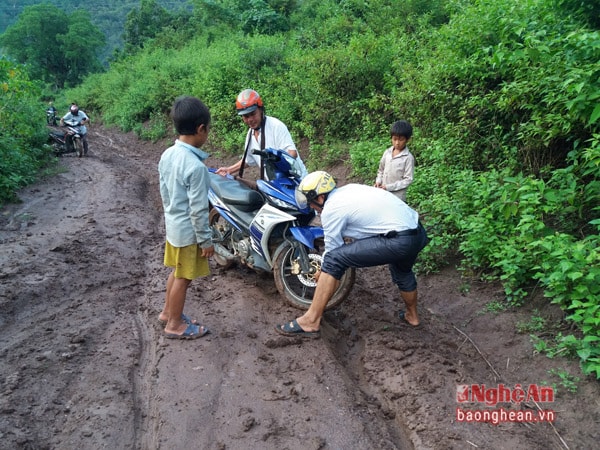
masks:
<path fill-rule="evenodd" d="M 365 239 L 417 228 L 419 214 L 391 192 L 347 184 L 329 194 L 321 223 L 328 252 L 344 245 L 344 238 Z"/>

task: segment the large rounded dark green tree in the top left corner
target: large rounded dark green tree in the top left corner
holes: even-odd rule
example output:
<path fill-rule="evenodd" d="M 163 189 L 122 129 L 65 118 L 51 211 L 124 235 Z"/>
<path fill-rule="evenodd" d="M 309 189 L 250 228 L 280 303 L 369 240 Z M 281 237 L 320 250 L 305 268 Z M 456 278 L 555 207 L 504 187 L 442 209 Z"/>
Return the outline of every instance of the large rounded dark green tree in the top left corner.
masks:
<path fill-rule="evenodd" d="M 29 6 L 0 36 L 6 53 L 27 67 L 33 79 L 63 88 L 98 70 L 98 51 L 106 38 L 89 18 L 67 14 L 49 3 Z"/>

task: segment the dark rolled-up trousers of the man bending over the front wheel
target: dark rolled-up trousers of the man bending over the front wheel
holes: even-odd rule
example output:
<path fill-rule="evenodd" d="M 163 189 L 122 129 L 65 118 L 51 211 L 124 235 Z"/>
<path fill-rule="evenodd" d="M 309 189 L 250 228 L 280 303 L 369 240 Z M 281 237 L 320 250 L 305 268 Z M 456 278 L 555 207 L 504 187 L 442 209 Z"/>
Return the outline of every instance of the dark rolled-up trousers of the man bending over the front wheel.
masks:
<path fill-rule="evenodd" d="M 339 280 L 349 267 L 373 267 L 388 264 L 392 281 L 401 291 L 417 288 L 412 270 L 417 255 L 427 245 L 427 233 L 419 223 L 415 234 L 394 237 L 374 236 L 342 245 L 325 254 L 321 270 Z"/>

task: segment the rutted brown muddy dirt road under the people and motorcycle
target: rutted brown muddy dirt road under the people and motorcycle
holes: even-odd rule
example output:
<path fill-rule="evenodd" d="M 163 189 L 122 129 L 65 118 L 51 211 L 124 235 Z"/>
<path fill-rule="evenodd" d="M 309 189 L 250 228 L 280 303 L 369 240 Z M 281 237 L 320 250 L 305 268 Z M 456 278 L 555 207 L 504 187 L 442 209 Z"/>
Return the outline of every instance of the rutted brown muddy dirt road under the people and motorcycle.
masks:
<path fill-rule="evenodd" d="M 101 127 L 89 141 L 1 211 L 1 449 L 598 448 L 598 383 L 565 389 L 548 371 L 583 378 L 576 363 L 536 355 L 523 311 L 489 312 L 500 290 L 465 289 L 452 268 L 419 278 L 421 329 L 395 317 L 387 269 L 363 269 L 322 338 L 302 341 L 273 330 L 299 312 L 269 274 L 211 264 L 186 312 L 212 333 L 165 340 L 156 164 L 170 143 Z M 539 417 L 531 401 L 457 403 L 458 385 L 500 383 L 554 384 L 538 403 L 554 423 L 457 420 Z"/>

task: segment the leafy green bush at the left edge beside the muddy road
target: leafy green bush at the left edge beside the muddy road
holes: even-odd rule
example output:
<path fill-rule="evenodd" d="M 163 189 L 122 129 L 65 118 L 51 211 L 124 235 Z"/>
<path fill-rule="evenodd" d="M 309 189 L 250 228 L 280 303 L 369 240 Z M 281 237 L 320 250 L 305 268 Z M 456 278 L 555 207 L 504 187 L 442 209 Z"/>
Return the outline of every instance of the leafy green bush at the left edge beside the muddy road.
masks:
<path fill-rule="evenodd" d="M 0 59 L 0 205 L 15 200 L 50 158 L 39 94 L 20 67 Z"/>

